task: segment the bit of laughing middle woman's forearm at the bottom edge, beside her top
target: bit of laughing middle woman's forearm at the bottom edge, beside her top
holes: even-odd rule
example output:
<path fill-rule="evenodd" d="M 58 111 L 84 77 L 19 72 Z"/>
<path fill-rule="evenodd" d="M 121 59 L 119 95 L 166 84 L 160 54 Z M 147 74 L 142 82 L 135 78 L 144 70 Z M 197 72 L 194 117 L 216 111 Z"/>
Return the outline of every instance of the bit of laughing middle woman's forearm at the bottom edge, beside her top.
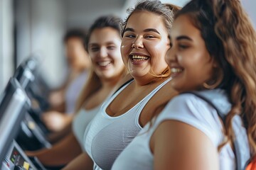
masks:
<path fill-rule="evenodd" d="M 73 170 L 73 169 L 93 169 L 93 162 L 90 159 L 89 155 L 85 152 L 80 154 L 78 157 L 73 159 L 67 166 L 65 166 L 62 170 Z"/>

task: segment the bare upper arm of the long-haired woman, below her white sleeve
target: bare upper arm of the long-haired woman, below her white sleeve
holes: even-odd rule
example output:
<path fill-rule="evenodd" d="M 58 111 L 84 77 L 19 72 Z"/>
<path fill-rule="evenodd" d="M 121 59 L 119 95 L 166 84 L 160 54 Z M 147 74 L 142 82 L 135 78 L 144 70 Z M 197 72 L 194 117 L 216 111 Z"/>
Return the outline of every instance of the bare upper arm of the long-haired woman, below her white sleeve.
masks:
<path fill-rule="evenodd" d="M 218 151 L 200 130 L 176 120 L 166 120 L 156 128 L 150 147 L 154 169 L 219 169 Z"/>

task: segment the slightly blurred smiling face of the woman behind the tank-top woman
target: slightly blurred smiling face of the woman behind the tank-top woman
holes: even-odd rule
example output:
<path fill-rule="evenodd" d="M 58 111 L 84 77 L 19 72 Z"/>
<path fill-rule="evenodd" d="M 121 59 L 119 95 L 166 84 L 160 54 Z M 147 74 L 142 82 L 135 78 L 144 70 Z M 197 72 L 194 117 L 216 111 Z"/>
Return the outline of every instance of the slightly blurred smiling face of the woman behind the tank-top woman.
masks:
<path fill-rule="evenodd" d="M 112 79 L 124 70 L 120 45 L 121 38 L 114 28 L 97 28 L 92 31 L 88 52 L 92 66 L 101 79 Z"/>

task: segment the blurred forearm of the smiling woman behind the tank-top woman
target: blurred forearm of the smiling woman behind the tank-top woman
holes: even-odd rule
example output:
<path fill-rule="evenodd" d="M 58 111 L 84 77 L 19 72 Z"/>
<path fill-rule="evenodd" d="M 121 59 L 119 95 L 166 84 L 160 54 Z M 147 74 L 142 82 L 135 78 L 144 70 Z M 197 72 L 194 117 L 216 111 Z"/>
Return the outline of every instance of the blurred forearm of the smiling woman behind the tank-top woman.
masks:
<path fill-rule="evenodd" d="M 41 149 L 37 152 L 26 152 L 28 156 L 36 156 L 45 166 L 60 166 L 68 164 L 82 152 L 73 133 L 53 145 L 50 149 Z"/>

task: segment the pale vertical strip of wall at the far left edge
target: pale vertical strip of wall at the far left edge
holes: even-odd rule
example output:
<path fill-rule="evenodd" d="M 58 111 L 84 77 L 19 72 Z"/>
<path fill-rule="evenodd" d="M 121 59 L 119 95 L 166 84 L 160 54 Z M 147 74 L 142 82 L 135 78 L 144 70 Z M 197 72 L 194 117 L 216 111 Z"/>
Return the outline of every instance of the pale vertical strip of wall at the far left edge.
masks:
<path fill-rule="evenodd" d="M 14 73 L 12 1 L 0 0 L 0 93 Z"/>

